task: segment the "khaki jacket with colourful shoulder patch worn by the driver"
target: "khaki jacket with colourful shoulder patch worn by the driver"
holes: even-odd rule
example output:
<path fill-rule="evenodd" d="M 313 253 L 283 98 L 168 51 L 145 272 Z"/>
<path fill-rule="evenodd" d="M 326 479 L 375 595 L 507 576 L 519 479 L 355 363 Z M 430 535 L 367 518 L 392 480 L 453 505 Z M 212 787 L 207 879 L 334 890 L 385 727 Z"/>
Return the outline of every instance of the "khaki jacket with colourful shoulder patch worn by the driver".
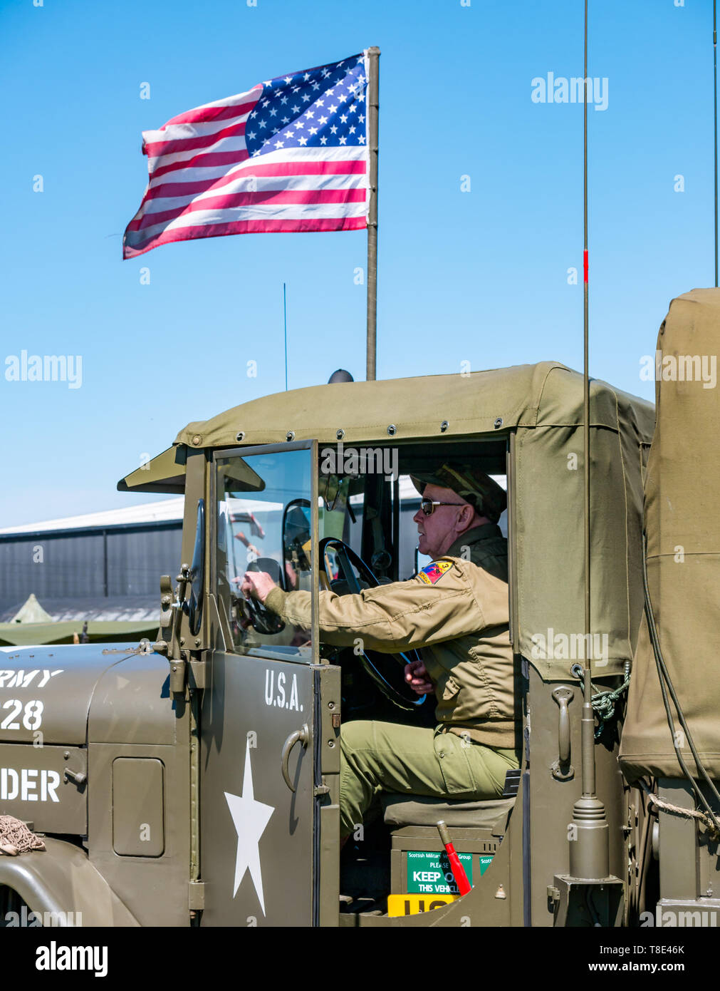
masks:
<path fill-rule="evenodd" d="M 265 605 L 310 627 L 309 592 L 273 589 Z M 328 643 L 353 646 L 360 637 L 369 650 L 420 649 L 436 686 L 438 722 L 487 746 L 515 746 L 507 543 L 494 523 L 468 530 L 407 582 L 355 596 L 321 592 L 319 611 Z"/>

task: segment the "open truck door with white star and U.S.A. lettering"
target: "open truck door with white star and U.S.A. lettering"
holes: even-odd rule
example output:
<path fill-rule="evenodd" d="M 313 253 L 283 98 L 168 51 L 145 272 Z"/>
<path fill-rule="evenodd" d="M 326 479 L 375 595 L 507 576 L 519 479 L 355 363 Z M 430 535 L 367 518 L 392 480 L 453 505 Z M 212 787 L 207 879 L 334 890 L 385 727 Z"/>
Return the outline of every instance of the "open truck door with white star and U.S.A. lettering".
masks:
<path fill-rule="evenodd" d="M 317 465 L 310 441 L 220 451 L 211 464 L 210 588 L 225 646 L 200 713 L 202 925 L 337 924 L 340 672 L 319 663 Z M 307 627 L 249 606 L 248 570 L 305 592 Z M 322 864 L 321 844 L 335 852 Z"/>

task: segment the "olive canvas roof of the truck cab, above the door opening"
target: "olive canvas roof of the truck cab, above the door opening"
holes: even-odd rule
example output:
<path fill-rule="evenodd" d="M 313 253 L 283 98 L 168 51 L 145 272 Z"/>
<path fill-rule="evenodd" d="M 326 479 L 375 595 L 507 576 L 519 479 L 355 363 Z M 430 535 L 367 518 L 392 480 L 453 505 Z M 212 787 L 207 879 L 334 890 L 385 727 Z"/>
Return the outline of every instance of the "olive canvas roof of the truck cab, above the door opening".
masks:
<path fill-rule="evenodd" d="M 652 433 L 651 403 L 610 385 L 591 385 L 595 425 L 617 426 L 621 414 L 633 410 L 642 431 Z M 387 440 L 388 426 L 396 440 L 433 436 L 493 433 L 498 429 L 579 423 L 582 376 L 558 362 L 515 365 L 466 375 L 423 376 L 379 382 L 334 383 L 276 392 L 234 406 L 209 420 L 188 423 L 174 443 L 190 448 L 229 447 L 239 443 L 271 444 L 315 438 Z M 447 422 L 447 426 L 441 425 Z"/>

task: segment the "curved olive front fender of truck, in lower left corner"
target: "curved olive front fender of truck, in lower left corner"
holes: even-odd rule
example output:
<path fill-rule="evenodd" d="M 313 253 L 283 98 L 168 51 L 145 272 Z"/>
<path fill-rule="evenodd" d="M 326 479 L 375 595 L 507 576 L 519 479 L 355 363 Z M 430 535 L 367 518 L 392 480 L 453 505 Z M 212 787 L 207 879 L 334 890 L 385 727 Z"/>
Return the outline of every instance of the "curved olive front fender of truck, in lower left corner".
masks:
<path fill-rule="evenodd" d="M 45 850 L 0 856 L 0 885 L 12 888 L 31 912 L 53 913 L 57 925 L 139 926 L 87 854 L 62 839 L 45 839 Z M 79 923 L 77 920 L 81 919 Z"/>

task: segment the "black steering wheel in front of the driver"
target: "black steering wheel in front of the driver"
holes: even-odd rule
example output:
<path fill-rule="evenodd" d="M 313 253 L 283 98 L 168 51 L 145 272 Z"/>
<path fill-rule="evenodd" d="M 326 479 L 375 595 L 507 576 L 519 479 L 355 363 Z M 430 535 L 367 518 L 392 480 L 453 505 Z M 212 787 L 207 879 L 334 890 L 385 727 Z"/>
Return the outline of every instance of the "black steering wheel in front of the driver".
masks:
<path fill-rule="evenodd" d="M 340 581 L 342 581 L 344 586 L 347 586 L 347 589 L 344 589 L 343 592 L 339 592 L 337 589 L 334 590 L 338 591 L 338 595 L 358 595 L 362 591 L 356 570 L 360 575 L 360 579 L 366 583 L 367 587 L 374 589 L 380 584 L 352 547 L 349 547 L 343 540 L 338 540 L 335 537 L 325 537 L 318 545 L 320 570 L 324 572 L 331 589 L 333 582 L 338 582 L 339 579 L 331 579 L 327 572 L 325 552 L 329 547 L 335 551 L 338 564 L 343 573 L 342 580 Z M 402 653 L 384 654 L 376 650 L 363 650 L 358 657 L 365 674 L 372 679 L 380 692 L 393 705 L 407 712 L 414 712 L 422 707 L 426 696 L 419 696 L 413 692 L 409 685 L 406 685 L 403 674 L 403 667 L 406 664 L 409 664 L 411 660 L 420 659 L 417 651 L 412 650 L 406 655 Z"/>

